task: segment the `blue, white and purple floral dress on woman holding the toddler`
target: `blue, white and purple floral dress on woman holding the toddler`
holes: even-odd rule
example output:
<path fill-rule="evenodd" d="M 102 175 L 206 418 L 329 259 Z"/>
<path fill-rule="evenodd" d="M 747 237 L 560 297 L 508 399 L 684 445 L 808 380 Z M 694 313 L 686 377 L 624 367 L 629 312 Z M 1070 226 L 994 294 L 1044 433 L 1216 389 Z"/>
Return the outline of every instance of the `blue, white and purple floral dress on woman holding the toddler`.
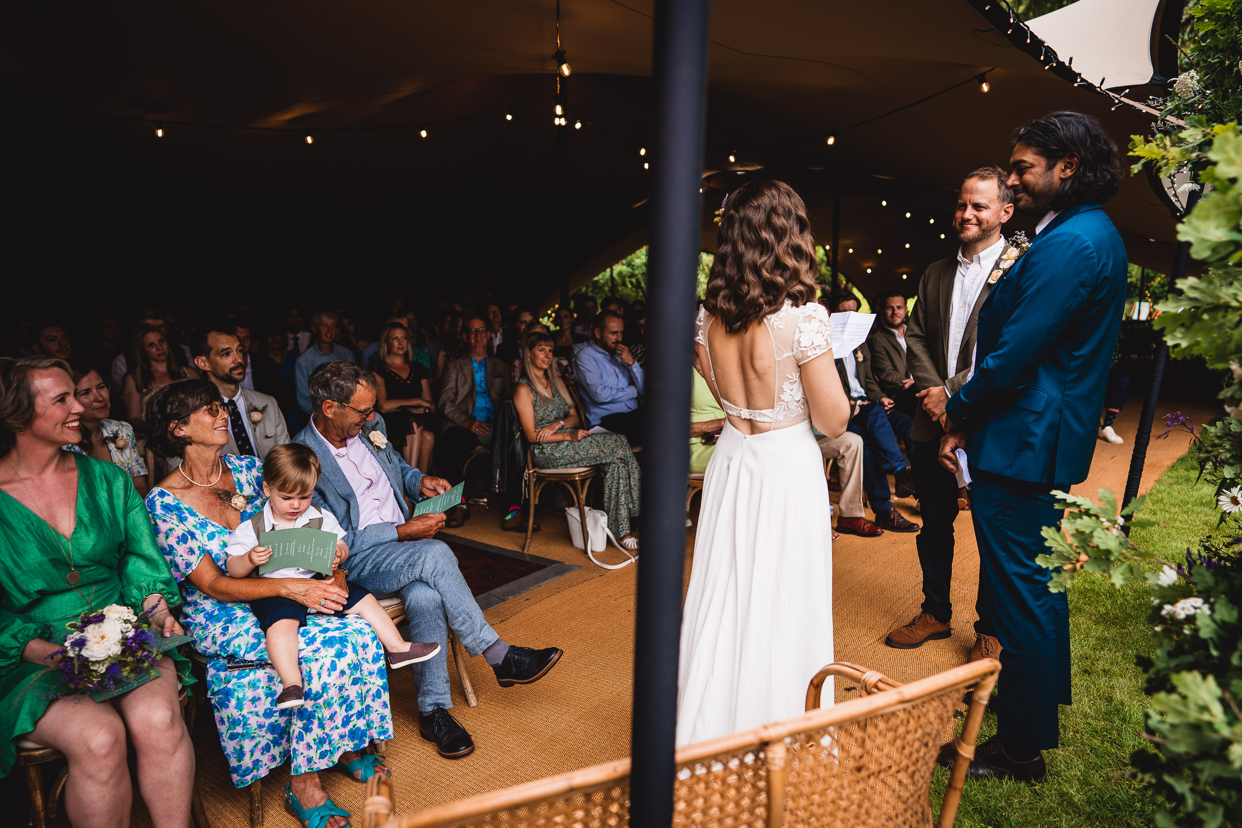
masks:
<path fill-rule="evenodd" d="M 247 499 L 241 519 L 263 508 L 258 458 L 226 454 L 237 492 Z M 291 773 L 332 767 L 345 751 L 392 737 L 384 649 L 358 616 L 310 613 L 299 633 L 306 705 L 277 710 L 281 679 L 266 664 L 230 670 L 226 658 L 267 662 L 263 632 L 246 603 L 199 592 L 186 578 L 204 552 L 225 570 L 230 530 L 207 520 L 161 488 L 147 495 L 155 540 L 181 585 L 181 623 L 207 657 L 207 694 L 236 787 L 291 762 Z"/>

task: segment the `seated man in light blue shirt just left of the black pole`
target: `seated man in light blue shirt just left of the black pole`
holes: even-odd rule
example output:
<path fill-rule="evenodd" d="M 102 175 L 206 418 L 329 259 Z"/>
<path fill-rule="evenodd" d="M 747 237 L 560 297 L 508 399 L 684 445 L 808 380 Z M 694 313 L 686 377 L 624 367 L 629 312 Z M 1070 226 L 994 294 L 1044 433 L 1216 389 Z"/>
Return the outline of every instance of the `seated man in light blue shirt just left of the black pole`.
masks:
<path fill-rule="evenodd" d="M 595 318 L 591 341 L 574 348 L 574 379 L 586 418 L 642 444 L 638 397 L 646 375 L 630 349 L 621 344 L 625 320 L 611 310 Z"/>

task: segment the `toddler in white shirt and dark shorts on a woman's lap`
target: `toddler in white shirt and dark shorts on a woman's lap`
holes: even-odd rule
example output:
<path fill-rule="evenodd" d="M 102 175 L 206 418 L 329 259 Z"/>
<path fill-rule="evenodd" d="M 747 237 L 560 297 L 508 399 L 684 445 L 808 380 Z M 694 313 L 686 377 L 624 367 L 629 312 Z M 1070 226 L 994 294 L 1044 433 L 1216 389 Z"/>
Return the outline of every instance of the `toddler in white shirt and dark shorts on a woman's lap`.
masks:
<path fill-rule="evenodd" d="M 246 577 L 271 560 L 271 547 L 258 545 L 263 533 L 299 528 L 318 529 L 337 536 L 332 561 L 332 569 L 337 571 L 349 557 L 349 547 L 344 541 L 345 530 L 332 513 L 319 511 L 310 505 L 318 482 L 319 458 L 306 446 L 289 443 L 277 446 L 267 453 L 267 459 L 263 461 L 263 497 L 267 498 L 267 505 L 262 513 L 240 524 L 229 538 L 229 547 L 225 550 L 229 554 L 229 575 L 235 578 Z M 263 572 L 262 577 L 322 580 L 324 575 L 315 570 L 286 566 Z M 348 581 L 345 588 L 349 590 L 349 597 L 340 611 L 361 616 L 375 628 L 384 643 L 390 668 L 425 662 L 440 652 L 438 644 L 411 644 L 405 641 L 370 590 Z M 307 626 L 307 606 L 292 598 L 271 596 L 255 598 L 250 602 L 250 608 L 258 619 L 258 628 L 267 636 L 267 655 L 284 684 L 281 695 L 276 696 L 276 709 L 301 708 L 304 704 L 304 679 L 298 667 L 298 629 Z"/>

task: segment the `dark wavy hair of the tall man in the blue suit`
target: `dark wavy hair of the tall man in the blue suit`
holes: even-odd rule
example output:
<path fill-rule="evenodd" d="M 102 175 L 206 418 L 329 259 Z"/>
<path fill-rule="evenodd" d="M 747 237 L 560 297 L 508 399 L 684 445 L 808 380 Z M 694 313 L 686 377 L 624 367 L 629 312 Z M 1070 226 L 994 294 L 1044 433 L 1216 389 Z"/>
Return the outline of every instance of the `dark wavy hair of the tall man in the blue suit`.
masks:
<path fill-rule="evenodd" d="M 1064 210 L 1076 204 L 1104 204 L 1122 182 L 1122 159 L 1117 144 L 1092 115 L 1081 112 L 1052 112 L 1013 133 L 1013 143 L 1035 148 L 1047 164 L 1073 154 L 1078 169 L 1061 182 L 1049 207 Z"/>

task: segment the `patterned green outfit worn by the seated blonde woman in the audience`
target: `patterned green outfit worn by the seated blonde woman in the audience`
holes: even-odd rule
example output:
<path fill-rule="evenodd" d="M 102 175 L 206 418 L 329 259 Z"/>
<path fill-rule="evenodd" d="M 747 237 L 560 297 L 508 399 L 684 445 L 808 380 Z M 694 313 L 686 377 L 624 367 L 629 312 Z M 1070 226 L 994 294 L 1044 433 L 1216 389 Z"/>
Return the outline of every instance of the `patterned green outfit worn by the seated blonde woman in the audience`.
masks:
<path fill-rule="evenodd" d="M 553 389 L 551 400 L 545 400 L 525 379 L 518 381 L 530 389 L 534 397 L 535 428 L 569 416 L 569 402 L 559 391 Z M 630 519 L 638 514 L 640 473 L 625 434 L 591 434 L 576 443 L 534 443 L 534 458 L 542 468 L 604 466 L 604 511 L 609 515 L 609 529 L 617 538 L 630 534 Z"/>

